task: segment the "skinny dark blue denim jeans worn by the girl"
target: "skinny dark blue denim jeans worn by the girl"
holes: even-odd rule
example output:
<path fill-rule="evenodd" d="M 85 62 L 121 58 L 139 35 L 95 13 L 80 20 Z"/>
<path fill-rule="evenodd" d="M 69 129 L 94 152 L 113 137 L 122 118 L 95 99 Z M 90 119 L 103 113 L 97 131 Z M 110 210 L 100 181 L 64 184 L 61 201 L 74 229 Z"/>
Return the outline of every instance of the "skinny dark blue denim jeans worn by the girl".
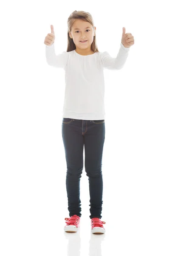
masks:
<path fill-rule="evenodd" d="M 102 218 L 102 152 L 105 120 L 62 119 L 62 140 L 67 163 L 68 211 L 81 217 L 80 178 L 85 145 L 85 172 L 89 180 L 90 218 Z"/>

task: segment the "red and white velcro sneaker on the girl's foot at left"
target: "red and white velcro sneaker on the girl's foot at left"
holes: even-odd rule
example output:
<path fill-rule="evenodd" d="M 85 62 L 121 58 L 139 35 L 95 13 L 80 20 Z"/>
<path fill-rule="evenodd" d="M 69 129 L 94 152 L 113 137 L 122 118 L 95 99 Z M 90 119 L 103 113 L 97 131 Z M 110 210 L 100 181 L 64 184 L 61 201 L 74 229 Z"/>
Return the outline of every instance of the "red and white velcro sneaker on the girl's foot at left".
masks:
<path fill-rule="evenodd" d="M 65 223 L 67 223 L 64 227 L 65 232 L 77 232 L 80 226 L 80 217 L 73 215 L 70 218 L 65 218 Z"/>

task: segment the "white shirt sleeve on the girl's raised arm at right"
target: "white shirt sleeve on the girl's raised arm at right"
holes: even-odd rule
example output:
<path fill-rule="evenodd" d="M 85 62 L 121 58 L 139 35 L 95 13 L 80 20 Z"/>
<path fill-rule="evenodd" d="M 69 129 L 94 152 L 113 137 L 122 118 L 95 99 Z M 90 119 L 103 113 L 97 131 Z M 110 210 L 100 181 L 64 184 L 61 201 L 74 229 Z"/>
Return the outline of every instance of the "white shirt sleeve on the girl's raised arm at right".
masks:
<path fill-rule="evenodd" d="M 102 52 L 99 55 L 100 63 L 108 70 L 119 70 L 125 65 L 129 50 L 130 48 L 124 47 L 121 43 L 116 58 L 112 58 L 108 52 Z"/>

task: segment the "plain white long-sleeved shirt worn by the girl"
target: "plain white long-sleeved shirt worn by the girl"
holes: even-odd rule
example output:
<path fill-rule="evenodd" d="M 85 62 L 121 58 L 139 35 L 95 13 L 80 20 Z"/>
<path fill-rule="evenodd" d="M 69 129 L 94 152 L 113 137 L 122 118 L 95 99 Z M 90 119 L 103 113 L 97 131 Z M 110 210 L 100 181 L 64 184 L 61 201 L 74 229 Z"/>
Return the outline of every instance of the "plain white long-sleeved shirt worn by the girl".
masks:
<path fill-rule="evenodd" d="M 105 119 L 105 81 L 103 70 L 119 70 L 130 48 L 120 44 L 116 58 L 108 52 L 80 55 L 75 50 L 55 54 L 54 43 L 45 45 L 48 65 L 65 70 L 65 99 L 62 117 L 82 120 Z"/>

